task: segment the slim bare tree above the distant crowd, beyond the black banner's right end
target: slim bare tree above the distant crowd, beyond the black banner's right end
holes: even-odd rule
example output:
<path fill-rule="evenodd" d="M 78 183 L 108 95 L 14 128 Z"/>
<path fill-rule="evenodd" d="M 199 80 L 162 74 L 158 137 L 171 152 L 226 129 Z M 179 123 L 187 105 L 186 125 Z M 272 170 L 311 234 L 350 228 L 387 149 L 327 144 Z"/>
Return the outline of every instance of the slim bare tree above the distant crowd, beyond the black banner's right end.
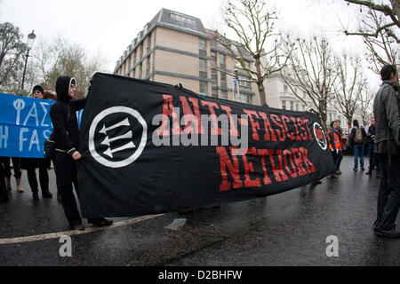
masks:
<path fill-rule="evenodd" d="M 350 128 L 366 84 L 363 67 L 361 59 L 348 58 L 347 54 L 335 58 L 334 62 L 337 80 L 333 84 L 333 90 L 337 104 L 333 106 L 346 117 Z"/>

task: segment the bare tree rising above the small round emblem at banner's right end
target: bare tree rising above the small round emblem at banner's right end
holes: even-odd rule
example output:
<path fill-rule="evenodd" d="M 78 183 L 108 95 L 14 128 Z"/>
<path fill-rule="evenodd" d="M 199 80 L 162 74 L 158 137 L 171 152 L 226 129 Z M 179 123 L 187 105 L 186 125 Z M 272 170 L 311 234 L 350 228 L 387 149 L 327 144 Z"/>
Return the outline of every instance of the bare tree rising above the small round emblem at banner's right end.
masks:
<path fill-rule="evenodd" d="M 292 51 L 292 46 L 295 51 Z M 333 69 L 333 56 L 329 43 L 325 39 L 313 37 L 312 40 L 287 38 L 289 68 L 281 72 L 284 82 L 292 93 L 306 106 L 310 100 L 321 115 L 324 129 L 327 129 L 327 107 L 334 99 L 333 83 L 336 73 Z M 306 95 L 304 98 L 297 92 Z"/>

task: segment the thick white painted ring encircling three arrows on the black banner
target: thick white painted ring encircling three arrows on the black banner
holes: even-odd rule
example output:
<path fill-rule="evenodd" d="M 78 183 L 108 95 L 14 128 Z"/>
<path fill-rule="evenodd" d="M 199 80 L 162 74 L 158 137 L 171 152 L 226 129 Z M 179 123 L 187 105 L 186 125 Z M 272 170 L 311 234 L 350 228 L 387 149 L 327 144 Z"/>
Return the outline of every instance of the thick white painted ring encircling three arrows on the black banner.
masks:
<path fill-rule="evenodd" d="M 138 149 L 135 151 L 134 154 L 132 154 L 130 157 L 126 158 L 124 161 L 112 162 L 112 161 L 107 160 L 106 158 L 104 158 L 97 152 L 96 146 L 94 143 L 94 137 L 95 137 L 96 129 L 97 129 L 97 126 L 99 125 L 99 123 L 108 115 L 118 114 L 118 113 L 131 114 L 133 117 L 135 117 L 138 120 L 138 122 L 140 122 L 141 126 L 143 127 L 143 134 L 141 136 L 140 146 L 138 147 Z M 96 160 L 97 162 L 100 162 L 100 164 L 102 164 L 108 168 L 114 168 L 114 169 L 123 168 L 123 167 L 126 167 L 126 166 L 132 164 L 136 160 L 138 160 L 138 158 L 140 157 L 140 154 L 142 154 L 144 148 L 146 147 L 147 141 L 148 141 L 148 124 L 146 123 L 146 121 L 143 119 L 143 117 L 140 115 L 140 113 L 138 111 L 136 111 L 130 107 L 125 107 L 125 106 L 114 106 L 114 107 L 110 107 L 110 108 L 102 111 L 100 114 L 98 114 L 94 118 L 91 128 L 89 130 L 89 151 L 92 154 L 92 157 L 94 160 Z"/>

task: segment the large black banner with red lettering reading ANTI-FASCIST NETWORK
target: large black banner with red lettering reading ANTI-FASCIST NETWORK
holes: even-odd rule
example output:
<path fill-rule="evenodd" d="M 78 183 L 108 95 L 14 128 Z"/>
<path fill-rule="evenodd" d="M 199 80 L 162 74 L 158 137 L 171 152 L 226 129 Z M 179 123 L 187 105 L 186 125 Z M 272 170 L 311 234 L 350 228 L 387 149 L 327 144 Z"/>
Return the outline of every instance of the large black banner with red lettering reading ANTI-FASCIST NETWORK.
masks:
<path fill-rule="evenodd" d="M 78 162 L 84 217 L 136 217 L 283 193 L 334 171 L 316 114 L 96 74 Z"/>

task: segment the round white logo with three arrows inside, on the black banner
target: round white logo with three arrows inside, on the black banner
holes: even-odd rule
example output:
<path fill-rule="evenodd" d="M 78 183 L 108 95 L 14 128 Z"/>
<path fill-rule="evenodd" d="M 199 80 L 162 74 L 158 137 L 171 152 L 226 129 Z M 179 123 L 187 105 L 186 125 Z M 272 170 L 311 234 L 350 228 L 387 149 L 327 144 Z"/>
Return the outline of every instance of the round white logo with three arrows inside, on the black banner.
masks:
<path fill-rule="evenodd" d="M 89 130 L 92 157 L 108 168 L 123 168 L 135 162 L 148 140 L 148 124 L 136 110 L 110 107 L 98 114 Z"/>

